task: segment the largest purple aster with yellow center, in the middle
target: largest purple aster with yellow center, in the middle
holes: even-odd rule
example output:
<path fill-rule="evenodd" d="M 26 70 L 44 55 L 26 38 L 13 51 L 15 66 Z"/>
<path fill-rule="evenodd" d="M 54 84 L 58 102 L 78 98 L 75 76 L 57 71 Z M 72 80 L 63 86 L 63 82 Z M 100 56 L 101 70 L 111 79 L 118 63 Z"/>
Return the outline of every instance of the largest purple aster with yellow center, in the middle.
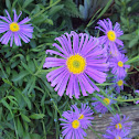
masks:
<path fill-rule="evenodd" d="M 46 53 L 56 54 L 57 57 L 46 57 L 43 67 L 57 67 L 46 75 L 51 86 L 55 86 L 55 92 L 63 96 L 65 89 L 66 95 L 72 98 L 75 95 L 79 97 L 79 88 L 83 96 L 87 96 L 88 92 L 99 92 L 99 88 L 92 79 L 101 84 L 106 81 L 108 64 L 106 64 L 106 50 L 99 46 L 99 41 L 86 33 L 77 34 L 72 31 L 71 34 L 65 33 L 55 39 L 60 42 L 54 43 L 58 52 L 46 50 Z M 73 40 L 73 43 L 72 43 Z"/>

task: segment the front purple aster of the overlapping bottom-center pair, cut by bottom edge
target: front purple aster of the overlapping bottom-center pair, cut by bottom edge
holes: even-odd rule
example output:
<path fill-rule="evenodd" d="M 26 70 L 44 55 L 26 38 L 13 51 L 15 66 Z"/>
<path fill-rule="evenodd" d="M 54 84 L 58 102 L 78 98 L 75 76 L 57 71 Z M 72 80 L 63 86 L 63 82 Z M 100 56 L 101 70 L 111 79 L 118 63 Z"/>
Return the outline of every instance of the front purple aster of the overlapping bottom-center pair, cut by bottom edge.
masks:
<path fill-rule="evenodd" d="M 86 132 L 81 128 L 81 121 L 78 120 L 78 115 L 73 110 L 64 111 L 62 115 L 64 118 L 60 118 L 61 124 L 64 129 L 62 131 L 64 139 L 84 139 Z"/>

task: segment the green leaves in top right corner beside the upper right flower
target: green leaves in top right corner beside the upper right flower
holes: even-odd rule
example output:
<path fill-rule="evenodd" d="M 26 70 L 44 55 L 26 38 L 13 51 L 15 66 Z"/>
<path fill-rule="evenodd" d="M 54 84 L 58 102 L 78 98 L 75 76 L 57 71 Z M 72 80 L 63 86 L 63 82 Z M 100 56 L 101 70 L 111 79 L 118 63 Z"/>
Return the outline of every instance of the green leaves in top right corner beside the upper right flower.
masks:
<path fill-rule="evenodd" d="M 139 54 L 139 18 L 138 17 L 138 0 L 116 0 L 115 8 L 117 17 L 120 17 L 120 25 L 124 35 L 120 38 L 125 47 L 128 51 L 128 56 L 133 57 Z M 139 63 L 135 63 L 138 65 Z"/>

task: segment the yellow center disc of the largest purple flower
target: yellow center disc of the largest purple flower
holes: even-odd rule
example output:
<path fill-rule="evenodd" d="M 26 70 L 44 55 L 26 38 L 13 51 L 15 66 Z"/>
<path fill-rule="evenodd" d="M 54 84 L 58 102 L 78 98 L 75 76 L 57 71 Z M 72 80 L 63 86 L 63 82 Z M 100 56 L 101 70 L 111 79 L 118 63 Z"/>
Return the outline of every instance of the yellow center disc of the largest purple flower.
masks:
<path fill-rule="evenodd" d="M 71 73 L 81 74 L 85 70 L 86 60 L 83 56 L 75 54 L 67 58 L 66 65 Z"/>

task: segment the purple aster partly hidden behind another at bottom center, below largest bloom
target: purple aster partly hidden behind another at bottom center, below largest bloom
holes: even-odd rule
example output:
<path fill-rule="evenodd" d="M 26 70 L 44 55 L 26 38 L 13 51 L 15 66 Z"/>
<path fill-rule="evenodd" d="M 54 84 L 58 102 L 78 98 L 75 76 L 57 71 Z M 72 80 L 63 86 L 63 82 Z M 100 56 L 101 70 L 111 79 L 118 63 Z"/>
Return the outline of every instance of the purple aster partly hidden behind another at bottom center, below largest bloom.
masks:
<path fill-rule="evenodd" d="M 78 120 L 81 122 L 81 127 L 84 129 L 87 129 L 88 126 L 92 126 L 92 120 L 94 117 L 92 115 L 94 114 L 89 106 L 86 106 L 86 104 L 82 104 L 82 108 L 77 108 L 76 105 L 72 106 L 75 110 L 75 114 L 78 116 Z"/>

